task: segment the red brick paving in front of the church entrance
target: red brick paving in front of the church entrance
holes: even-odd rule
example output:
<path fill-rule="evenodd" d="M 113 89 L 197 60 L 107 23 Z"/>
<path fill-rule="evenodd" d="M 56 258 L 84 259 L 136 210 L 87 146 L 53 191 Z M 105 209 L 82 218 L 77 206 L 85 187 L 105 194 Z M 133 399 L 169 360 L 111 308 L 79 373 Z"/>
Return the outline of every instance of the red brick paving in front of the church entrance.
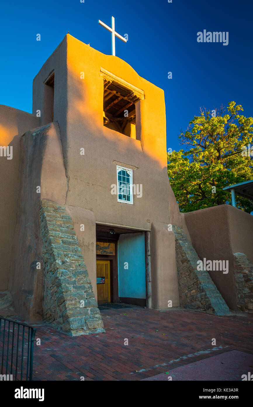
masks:
<path fill-rule="evenodd" d="M 33 380 L 134 381 L 234 349 L 253 354 L 252 314 L 133 307 L 101 315 L 106 333 L 70 337 L 37 326 L 41 345 L 35 342 Z"/>

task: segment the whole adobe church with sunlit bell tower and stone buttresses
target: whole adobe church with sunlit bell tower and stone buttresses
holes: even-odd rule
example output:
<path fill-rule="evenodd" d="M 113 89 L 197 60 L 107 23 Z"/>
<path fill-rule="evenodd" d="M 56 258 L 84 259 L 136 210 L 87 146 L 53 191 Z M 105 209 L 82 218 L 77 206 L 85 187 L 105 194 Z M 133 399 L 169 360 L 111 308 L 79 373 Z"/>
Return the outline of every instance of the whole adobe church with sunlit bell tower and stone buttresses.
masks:
<path fill-rule="evenodd" d="M 226 275 L 197 271 L 216 257 L 169 184 L 163 90 L 67 34 L 32 100 L 32 114 L 0 106 L 0 314 L 9 301 L 26 322 L 82 335 L 104 331 L 108 302 L 251 310 L 233 261 Z"/>

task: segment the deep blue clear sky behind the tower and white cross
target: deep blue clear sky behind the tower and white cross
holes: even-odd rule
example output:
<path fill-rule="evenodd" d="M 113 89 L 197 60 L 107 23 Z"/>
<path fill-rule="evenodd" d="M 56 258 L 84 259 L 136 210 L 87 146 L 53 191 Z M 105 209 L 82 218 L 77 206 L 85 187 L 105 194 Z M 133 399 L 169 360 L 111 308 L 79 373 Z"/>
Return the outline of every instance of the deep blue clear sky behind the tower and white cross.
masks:
<path fill-rule="evenodd" d="M 116 31 L 129 36 L 126 44 L 116 39 L 116 55 L 164 90 L 167 147 L 178 150 L 180 128 L 200 106 L 233 100 L 252 116 L 252 12 L 250 0 L 2 1 L 0 104 L 31 112 L 32 79 L 68 31 L 110 54 L 110 33 L 98 20 L 110 25 L 113 15 Z M 198 43 L 204 29 L 228 31 L 229 44 Z"/>

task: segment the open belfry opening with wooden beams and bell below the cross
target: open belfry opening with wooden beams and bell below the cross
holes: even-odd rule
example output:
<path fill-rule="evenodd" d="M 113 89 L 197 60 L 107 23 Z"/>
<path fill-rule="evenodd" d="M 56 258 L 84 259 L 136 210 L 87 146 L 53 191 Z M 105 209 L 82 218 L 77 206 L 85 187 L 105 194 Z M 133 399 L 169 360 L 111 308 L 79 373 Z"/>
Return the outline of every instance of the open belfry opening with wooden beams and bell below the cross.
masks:
<path fill-rule="evenodd" d="M 136 109 L 138 96 L 116 81 L 104 79 L 104 126 L 136 138 Z"/>

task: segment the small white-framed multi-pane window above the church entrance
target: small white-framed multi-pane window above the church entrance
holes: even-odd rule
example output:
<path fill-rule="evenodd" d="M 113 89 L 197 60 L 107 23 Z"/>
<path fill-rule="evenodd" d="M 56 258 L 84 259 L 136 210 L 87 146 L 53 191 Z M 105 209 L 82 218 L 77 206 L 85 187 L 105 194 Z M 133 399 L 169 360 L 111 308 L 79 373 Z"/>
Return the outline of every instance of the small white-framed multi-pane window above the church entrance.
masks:
<path fill-rule="evenodd" d="M 134 204 L 133 199 L 133 170 L 117 165 L 117 193 L 118 202 Z"/>

